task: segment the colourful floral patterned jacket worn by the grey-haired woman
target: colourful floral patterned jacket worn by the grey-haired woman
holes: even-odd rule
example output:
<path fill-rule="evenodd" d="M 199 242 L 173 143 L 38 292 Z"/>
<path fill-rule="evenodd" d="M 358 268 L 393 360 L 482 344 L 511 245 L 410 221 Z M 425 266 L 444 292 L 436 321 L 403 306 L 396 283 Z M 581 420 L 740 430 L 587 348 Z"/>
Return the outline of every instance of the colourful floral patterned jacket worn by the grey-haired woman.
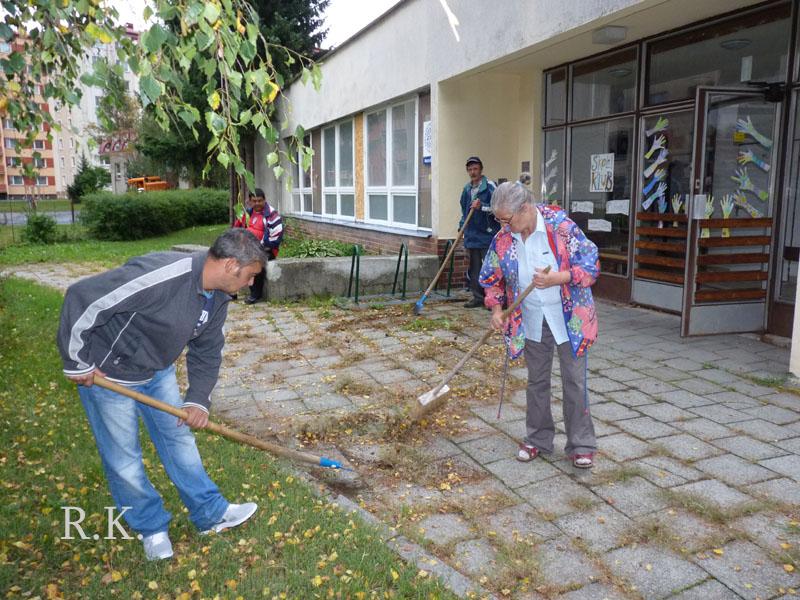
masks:
<path fill-rule="evenodd" d="M 558 206 L 538 204 L 537 208 L 544 216 L 547 241 L 559 271 L 571 274 L 570 282 L 561 286 L 561 306 L 572 353 L 583 356 L 597 339 L 597 313 L 591 290 L 600 272 L 597 246 Z M 492 240 L 481 268 L 480 284 L 486 288 L 485 302 L 489 308 L 504 304 L 510 306 L 521 292 L 517 250 L 508 226 L 503 227 Z M 510 321 L 506 343 L 509 356 L 517 358 L 525 348 L 520 307 L 511 313 Z"/>

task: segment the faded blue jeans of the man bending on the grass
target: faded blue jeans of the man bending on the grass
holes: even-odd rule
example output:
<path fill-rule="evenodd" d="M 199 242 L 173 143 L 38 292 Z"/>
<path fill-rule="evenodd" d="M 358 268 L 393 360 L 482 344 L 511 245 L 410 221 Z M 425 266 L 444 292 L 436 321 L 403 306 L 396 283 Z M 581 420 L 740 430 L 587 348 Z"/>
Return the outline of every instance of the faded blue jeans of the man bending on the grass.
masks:
<path fill-rule="evenodd" d="M 174 366 L 157 371 L 150 383 L 132 389 L 172 406 L 182 405 Z M 178 427 L 177 417 L 97 385 L 79 385 L 78 393 L 117 509 L 131 507 L 125 513 L 131 529 L 146 537 L 167 531 L 172 518 L 144 471 L 140 416 L 195 527 L 205 531 L 222 519 L 228 501 L 203 468 L 188 425 Z"/>

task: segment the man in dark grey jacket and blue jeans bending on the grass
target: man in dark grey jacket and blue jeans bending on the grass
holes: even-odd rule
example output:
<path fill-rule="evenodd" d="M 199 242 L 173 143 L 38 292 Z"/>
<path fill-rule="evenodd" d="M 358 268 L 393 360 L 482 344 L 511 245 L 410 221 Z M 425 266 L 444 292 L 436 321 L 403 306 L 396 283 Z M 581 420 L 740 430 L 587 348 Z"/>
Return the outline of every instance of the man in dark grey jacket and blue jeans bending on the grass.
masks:
<path fill-rule="evenodd" d="M 258 508 L 225 499 L 203 467 L 190 428 L 208 423 L 229 294 L 252 284 L 265 262 L 259 241 L 232 229 L 207 252 L 133 258 L 67 290 L 57 339 L 64 373 L 78 384 L 111 495 L 142 536 L 148 560 L 172 556 L 172 516 L 145 474 L 139 417 L 199 531 L 235 527 Z M 185 348 L 189 388 L 181 399 L 174 363 Z M 185 418 L 92 385 L 95 375 L 181 408 Z"/>

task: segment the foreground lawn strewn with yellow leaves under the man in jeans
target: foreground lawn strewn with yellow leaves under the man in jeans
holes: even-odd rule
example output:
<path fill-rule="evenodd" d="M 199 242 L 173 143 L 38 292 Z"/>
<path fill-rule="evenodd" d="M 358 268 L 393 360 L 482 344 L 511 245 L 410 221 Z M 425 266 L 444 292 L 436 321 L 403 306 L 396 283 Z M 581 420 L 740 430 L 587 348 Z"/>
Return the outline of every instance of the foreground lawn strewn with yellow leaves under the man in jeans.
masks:
<path fill-rule="evenodd" d="M 102 539 L 103 507 L 112 500 L 53 344 L 61 302 L 58 292 L 0 279 L 5 597 L 452 597 L 269 455 L 202 432 L 198 445 L 209 473 L 229 500 L 257 501 L 256 516 L 241 528 L 199 536 L 143 437 L 148 475 L 173 514 L 175 558 L 149 563 L 137 540 Z M 101 538 L 62 540 L 65 505 L 83 508 L 87 534 Z"/>

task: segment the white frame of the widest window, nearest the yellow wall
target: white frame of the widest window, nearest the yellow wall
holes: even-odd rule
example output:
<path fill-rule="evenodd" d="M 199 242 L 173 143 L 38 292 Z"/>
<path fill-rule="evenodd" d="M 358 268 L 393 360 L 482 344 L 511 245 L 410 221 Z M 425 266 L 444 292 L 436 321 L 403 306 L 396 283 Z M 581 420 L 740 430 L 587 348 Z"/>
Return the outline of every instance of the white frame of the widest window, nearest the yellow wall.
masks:
<path fill-rule="evenodd" d="M 411 104 L 414 108 L 414 137 L 413 137 L 413 164 L 414 183 L 412 185 L 394 185 L 392 184 L 392 115 L 395 108 L 404 104 Z M 382 186 L 369 185 L 369 177 L 367 171 L 369 168 L 369 116 L 386 111 L 386 184 Z M 419 95 L 413 97 L 406 97 L 401 100 L 383 104 L 374 108 L 373 110 L 364 113 L 364 222 L 372 225 L 382 225 L 384 227 L 397 227 L 401 229 L 419 229 Z M 385 195 L 386 196 L 386 220 L 375 219 L 370 214 L 370 196 L 371 195 Z M 402 221 L 394 220 L 394 198 L 395 196 L 413 196 L 414 197 L 414 222 L 404 223 Z"/>

